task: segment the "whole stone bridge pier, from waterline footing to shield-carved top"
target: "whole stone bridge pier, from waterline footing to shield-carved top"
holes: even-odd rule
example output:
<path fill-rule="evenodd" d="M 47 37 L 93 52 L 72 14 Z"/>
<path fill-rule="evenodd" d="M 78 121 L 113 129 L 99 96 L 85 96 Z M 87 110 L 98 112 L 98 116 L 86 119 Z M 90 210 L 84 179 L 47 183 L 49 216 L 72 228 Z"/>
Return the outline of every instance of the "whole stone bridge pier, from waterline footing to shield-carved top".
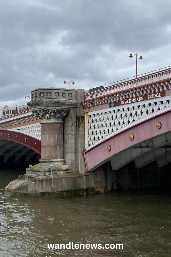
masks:
<path fill-rule="evenodd" d="M 6 186 L 8 194 L 68 197 L 104 191 L 104 171 L 102 178 L 101 171 L 86 171 L 84 108 L 80 104 L 84 93 L 83 89 L 62 88 L 31 92 L 27 104 L 41 119 L 41 159 Z"/>

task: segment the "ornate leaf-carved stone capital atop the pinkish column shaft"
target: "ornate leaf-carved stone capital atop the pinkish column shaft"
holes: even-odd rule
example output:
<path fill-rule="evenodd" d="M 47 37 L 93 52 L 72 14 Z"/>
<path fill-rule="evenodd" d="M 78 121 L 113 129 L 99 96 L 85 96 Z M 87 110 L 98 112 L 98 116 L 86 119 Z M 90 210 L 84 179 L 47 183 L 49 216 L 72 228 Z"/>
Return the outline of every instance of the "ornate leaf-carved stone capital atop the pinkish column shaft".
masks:
<path fill-rule="evenodd" d="M 68 110 L 68 108 L 37 108 L 33 109 L 32 113 L 42 120 L 40 123 L 64 123 L 63 119 Z"/>

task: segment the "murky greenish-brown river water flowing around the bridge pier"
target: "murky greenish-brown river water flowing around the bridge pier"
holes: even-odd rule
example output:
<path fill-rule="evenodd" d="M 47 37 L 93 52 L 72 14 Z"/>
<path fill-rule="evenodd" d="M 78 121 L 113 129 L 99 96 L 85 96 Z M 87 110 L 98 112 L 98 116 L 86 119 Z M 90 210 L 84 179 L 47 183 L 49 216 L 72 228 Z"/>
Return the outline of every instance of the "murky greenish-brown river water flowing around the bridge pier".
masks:
<path fill-rule="evenodd" d="M 171 256 L 170 188 L 64 199 L 3 196 L 22 173 L 0 170 L 1 257 Z M 123 249 L 48 249 L 69 242 Z"/>

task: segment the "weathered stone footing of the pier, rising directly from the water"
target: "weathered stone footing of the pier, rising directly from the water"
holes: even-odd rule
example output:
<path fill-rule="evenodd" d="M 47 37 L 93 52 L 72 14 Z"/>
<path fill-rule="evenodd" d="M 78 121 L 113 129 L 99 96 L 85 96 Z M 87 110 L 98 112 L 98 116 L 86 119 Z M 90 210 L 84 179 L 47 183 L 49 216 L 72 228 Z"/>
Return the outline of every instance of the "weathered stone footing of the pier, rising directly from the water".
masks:
<path fill-rule="evenodd" d="M 46 193 L 54 192 L 53 196 L 69 197 L 102 193 L 105 182 L 96 182 L 95 185 L 93 175 L 83 176 L 79 172 L 55 173 L 52 176 L 27 173 L 10 182 L 5 190 L 19 195 L 47 196 Z"/>

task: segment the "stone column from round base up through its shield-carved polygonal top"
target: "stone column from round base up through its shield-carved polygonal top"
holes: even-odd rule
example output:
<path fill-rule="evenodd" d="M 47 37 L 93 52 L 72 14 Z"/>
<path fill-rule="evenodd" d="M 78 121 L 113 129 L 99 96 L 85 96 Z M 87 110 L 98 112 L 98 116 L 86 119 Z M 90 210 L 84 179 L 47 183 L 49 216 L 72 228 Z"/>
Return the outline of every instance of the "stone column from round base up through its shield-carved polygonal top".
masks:
<path fill-rule="evenodd" d="M 67 112 L 78 105 L 77 90 L 38 88 L 31 92 L 27 103 L 32 113 L 41 119 L 41 159 L 31 168 L 32 173 L 51 174 L 70 172 L 63 158 L 63 123 Z"/>

